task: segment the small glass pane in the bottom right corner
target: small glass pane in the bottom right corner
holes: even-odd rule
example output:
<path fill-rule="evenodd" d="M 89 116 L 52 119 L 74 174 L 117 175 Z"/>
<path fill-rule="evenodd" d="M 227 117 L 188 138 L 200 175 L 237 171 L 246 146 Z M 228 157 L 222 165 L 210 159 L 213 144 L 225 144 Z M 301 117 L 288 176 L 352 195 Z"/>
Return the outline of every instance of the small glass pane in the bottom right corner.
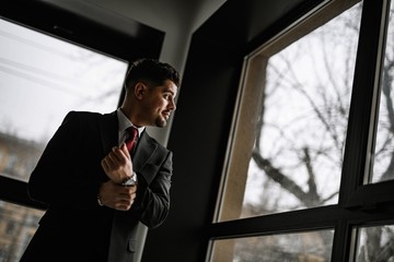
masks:
<path fill-rule="evenodd" d="M 354 261 L 394 261 L 394 226 L 361 227 L 357 235 Z"/>

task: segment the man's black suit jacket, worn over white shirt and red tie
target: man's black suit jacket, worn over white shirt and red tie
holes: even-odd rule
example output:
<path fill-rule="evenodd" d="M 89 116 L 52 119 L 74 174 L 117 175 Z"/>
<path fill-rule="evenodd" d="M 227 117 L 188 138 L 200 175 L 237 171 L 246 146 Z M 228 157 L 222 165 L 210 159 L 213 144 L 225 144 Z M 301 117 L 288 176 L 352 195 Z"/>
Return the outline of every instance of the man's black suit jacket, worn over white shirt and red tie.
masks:
<path fill-rule="evenodd" d="M 142 132 L 132 156 L 137 198 L 114 211 L 96 198 L 108 179 L 101 160 L 117 144 L 116 111 L 66 116 L 30 178 L 31 198 L 48 209 L 21 261 L 134 261 L 138 223 L 154 228 L 167 216 L 172 153 Z"/>

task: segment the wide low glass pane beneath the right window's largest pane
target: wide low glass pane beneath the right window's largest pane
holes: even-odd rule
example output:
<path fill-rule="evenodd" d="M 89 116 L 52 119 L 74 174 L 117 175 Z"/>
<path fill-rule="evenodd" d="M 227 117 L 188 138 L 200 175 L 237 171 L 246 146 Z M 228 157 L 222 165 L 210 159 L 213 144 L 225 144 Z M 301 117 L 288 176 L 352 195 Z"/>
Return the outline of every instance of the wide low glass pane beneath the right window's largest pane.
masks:
<path fill-rule="evenodd" d="M 331 261 L 334 230 L 216 240 L 210 261 Z"/>

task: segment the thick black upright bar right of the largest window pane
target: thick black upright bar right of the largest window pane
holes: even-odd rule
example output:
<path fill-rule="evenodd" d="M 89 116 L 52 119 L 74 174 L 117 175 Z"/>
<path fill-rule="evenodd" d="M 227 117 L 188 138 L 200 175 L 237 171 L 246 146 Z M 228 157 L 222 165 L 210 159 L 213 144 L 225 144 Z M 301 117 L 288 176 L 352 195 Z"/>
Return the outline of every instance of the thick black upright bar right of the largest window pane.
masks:
<path fill-rule="evenodd" d="M 369 171 L 374 111 L 379 99 L 379 75 L 383 46 L 382 10 L 386 1 L 363 1 L 359 46 L 349 111 L 339 204 L 349 200 Z"/>

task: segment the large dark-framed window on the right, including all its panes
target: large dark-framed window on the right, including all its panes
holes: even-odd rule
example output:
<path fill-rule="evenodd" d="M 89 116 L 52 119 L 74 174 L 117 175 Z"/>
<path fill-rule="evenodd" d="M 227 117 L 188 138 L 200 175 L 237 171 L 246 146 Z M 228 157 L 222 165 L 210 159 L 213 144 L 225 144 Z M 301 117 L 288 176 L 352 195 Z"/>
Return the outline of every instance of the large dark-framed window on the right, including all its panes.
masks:
<path fill-rule="evenodd" d="M 394 5 L 350 2 L 245 57 L 209 261 L 393 260 Z"/>

